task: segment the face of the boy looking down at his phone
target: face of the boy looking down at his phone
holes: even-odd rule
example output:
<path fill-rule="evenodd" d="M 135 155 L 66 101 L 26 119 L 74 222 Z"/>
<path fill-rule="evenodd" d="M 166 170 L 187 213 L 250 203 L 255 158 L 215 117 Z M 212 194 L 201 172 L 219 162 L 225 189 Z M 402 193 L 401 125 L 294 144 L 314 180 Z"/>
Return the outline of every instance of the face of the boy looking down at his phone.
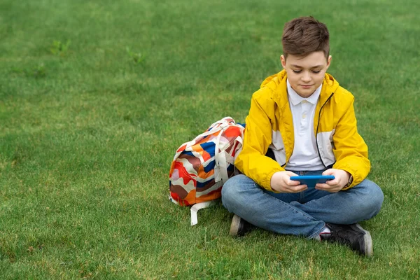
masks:
<path fill-rule="evenodd" d="M 322 84 L 331 62 L 331 56 L 325 59 L 322 51 L 312 52 L 306 57 L 288 55 L 287 60 L 281 55 L 280 59 L 293 90 L 304 98 L 310 97 Z"/>

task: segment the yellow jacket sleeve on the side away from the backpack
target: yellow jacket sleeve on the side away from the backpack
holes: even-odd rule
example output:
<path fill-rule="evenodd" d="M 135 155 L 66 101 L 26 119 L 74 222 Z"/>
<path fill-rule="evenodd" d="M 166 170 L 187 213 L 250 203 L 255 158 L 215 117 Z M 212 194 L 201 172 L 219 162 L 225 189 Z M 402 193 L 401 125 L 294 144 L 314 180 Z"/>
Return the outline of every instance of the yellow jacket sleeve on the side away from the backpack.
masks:
<path fill-rule="evenodd" d="M 333 168 L 342 169 L 353 176 L 351 186 L 346 190 L 363 181 L 370 172 L 370 161 L 367 158 L 367 145 L 357 132 L 357 121 L 353 107 L 354 97 L 349 102 L 348 108 L 344 109 L 342 118 L 339 119 L 335 134 L 332 137 L 335 148 L 335 164 Z"/>

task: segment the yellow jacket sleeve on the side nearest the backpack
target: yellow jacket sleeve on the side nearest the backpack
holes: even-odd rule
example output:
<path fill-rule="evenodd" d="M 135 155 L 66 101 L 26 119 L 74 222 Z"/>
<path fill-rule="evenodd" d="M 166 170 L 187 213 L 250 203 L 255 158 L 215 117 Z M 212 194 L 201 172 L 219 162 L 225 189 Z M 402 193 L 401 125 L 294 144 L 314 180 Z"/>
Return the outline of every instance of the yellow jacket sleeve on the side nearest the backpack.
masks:
<path fill-rule="evenodd" d="M 274 102 L 271 104 L 273 108 L 267 108 L 270 106 L 267 102 L 264 102 L 263 108 L 257 98 L 260 94 L 263 94 L 261 90 L 255 92 L 251 99 L 251 109 L 246 117 L 244 146 L 235 160 L 235 166 L 262 188 L 273 191 L 271 177 L 275 172 L 284 169 L 278 162 L 265 156 L 272 143 L 272 123 L 269 118 L 271 112 L 267 111 L 272 111 L 274 118 Z"/>

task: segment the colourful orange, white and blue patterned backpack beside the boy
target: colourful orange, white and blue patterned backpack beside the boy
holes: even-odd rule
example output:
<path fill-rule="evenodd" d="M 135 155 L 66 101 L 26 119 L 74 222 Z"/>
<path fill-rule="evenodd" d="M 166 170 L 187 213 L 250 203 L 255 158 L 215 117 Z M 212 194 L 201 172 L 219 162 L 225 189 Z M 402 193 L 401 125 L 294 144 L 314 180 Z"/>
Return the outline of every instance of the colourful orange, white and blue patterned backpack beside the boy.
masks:
<path fill-rule="evenodd" d="M 223 183 L 235 173 L 235 158 L 242 148 L 244 125 L 230 117 L 213 123 L 205 132 L 176 150 L 169 171 L 169 200 L 191 207 L 191 225 L 197 211 L 221 197 Z"/>

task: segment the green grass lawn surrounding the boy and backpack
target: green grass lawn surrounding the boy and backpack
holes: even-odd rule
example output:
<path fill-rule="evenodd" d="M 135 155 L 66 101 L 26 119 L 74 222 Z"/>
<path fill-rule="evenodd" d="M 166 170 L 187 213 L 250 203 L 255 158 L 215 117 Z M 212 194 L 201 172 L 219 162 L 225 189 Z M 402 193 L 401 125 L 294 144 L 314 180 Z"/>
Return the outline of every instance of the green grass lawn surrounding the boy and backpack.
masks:
<path fill-rule="evenodd" d="M 418 1 L 0 3 L 1 279 L 419 279 Z M 167 200 L 174 151 L 244 122 L 281 69 L 283 24 L 314 15 L 356 96 L 384 191 L 374 258 Z"/>

